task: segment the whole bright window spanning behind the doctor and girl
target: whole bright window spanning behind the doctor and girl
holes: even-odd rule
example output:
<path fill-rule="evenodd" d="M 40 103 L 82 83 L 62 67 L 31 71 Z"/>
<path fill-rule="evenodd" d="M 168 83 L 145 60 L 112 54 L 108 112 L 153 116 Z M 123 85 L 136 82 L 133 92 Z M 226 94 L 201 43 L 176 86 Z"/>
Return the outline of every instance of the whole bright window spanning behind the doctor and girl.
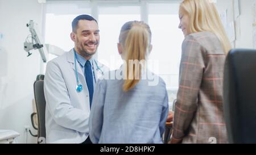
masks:
<path fill-rule="evenodd" d="M 69 51 L 73 41 L 69 37 L 71 22 L 80 14 L 92 14 L 100 28 L 100 46 L 96 57 L 110 69 L 122 64 L 117 43 L 121 26 L 130 20 L 143 20 L 150 25 L 153 49 L 149 68 L 166 82 L 169 100 L 176 98 L 181 43 L 183 33 L 179 25 L 179 1 L 47 1 L 45 40 Z M 51 60 L 53 55 L 49 55 Z M 158 62 L 157 66 L 155 63 Z"/>

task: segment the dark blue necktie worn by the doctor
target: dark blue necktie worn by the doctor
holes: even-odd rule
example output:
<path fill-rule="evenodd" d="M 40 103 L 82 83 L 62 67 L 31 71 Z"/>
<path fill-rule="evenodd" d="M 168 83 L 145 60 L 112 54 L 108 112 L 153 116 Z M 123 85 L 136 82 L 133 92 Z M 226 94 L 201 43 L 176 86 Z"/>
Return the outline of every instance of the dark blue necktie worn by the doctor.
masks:
<path fill-rule="evenodd" d="M 85 80 L 89 90 L 89 99 L 90 99 L 90 107 L 92 106 L 92 98 L 93 98 L 93 76 L 92 76 L 92 65 L 90 65 L 90 61 L 87 60 L 85 62 Z"/>

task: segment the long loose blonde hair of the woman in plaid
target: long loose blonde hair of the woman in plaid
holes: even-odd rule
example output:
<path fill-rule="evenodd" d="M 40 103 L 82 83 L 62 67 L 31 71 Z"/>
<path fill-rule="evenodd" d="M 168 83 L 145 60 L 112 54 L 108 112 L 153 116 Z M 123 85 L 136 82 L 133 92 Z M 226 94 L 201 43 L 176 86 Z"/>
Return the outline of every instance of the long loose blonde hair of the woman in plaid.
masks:
<path fill-rule="evenodd" d="M 183 12 L 189 16 L 189 33 L 209 31 L 220 40 L 226 54 L 231 45 L 221 23 L 220 16 L 212 0 L 184 0 L 180 4 L 179 14 Z"/>

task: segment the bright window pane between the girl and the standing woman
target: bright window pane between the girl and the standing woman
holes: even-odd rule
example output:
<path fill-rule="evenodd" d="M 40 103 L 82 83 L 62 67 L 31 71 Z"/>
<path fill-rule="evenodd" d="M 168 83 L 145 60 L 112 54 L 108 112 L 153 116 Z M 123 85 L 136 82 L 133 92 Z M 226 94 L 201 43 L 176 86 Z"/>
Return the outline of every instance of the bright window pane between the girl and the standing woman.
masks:
<path fill-rule="evenodd" d="M 152 31 L 152 52 L 150 62 L 158 62 L 152 68 L 166 82 L 170 102 L 176 99 L 179 87 L 179 65 L 181 44 L 184 39 L 179 26 L 178 3 L 150 3 L 148 24 Z"/>

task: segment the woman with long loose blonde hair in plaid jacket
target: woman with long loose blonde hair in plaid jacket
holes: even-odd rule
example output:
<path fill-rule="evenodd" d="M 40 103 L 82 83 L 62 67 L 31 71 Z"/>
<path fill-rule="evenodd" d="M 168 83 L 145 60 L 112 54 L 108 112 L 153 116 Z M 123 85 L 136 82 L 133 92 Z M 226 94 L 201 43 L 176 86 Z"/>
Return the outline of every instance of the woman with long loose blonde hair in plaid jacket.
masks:
<path fill-rule="evenodd" d="M 179 90 L 171 143 L 228 143 L 222 85 L 228 37 L 214 3 L 184 0 Z"/>

